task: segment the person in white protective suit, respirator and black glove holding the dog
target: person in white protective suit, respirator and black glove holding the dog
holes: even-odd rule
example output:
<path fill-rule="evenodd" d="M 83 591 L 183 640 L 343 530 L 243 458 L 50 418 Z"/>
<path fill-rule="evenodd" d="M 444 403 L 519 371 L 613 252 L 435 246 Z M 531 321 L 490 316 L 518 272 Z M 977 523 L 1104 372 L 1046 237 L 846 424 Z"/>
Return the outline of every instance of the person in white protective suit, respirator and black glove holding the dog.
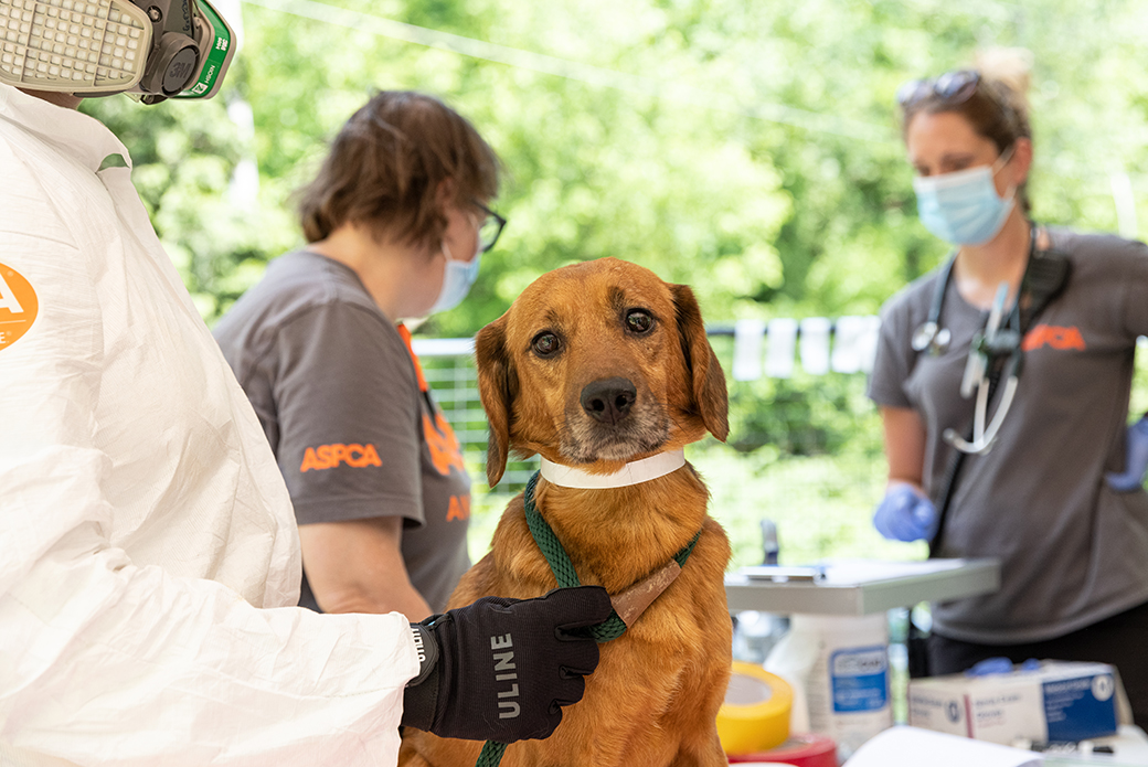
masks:
<path fill-rule="evenodd" d="M 400 725 L 549 735 L 597 665 L 598 587 L 416 625 L 289 606 L 298 539 L 259 423 L 123 144 L 68 108 L 209 96 L 230 28 L 205 0 L 53 2 L 0 0 L 0 765 L 375 766 Z M 88 72 L 71 26 L 146 56 Z M 521 713 L 501 720 L 507 634 Z"/>

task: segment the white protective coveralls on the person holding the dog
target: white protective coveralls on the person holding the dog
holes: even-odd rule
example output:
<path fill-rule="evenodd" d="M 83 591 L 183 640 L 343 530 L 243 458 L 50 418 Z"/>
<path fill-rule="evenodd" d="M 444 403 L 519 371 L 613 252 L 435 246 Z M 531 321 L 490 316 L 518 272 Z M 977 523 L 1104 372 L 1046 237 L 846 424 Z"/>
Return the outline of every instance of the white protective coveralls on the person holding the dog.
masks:
<path fill-rule="evenodd" d="M 0 273 L 39 304 L 0 347 L 0 765 L 394 765 L 408 621 L 289 606 L 284 481 L 129 165 L 0 85 Z"/>

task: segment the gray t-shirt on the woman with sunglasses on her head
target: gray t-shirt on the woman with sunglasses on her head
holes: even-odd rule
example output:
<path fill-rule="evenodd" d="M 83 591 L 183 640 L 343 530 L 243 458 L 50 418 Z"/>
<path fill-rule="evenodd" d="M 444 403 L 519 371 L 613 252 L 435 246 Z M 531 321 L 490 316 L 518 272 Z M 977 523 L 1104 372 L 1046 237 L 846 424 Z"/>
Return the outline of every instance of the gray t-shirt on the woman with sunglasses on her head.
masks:
<path fill-rule="evenodd" d="M 1068 287 L 1025 335 L 1013 406 L 992 450 L 965 458 L 945 527 L 939 556 L 1003 565 L 999 592 L 933 605 L 934 629 L 955 640 L 1041 641 L 1148 602 L 1148 495 L 1115 493 L 1103 479 L 1124 465 L 1135 342 L 1148 333 L 1148 248 L 1068 230 L 1050 235 L 1070 257 Z M 954 280 L 939 323 L 952 333 L 948 350 L 914 351 L 937 279 L 926 274 L 885 304 L 869 380 L 877 404 L 921 416 L 934 502 L 953 451 L 941 434 L 964 433 L 972 418 L 961 378 L 986 317 Z"/>

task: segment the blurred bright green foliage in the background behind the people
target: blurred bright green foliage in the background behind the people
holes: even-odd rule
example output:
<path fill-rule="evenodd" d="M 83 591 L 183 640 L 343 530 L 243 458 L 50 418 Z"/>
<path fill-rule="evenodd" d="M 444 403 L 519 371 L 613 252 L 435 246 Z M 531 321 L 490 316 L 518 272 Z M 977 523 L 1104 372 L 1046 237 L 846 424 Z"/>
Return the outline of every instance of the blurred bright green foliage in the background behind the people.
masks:
<path fill-rule="evenodd" d="M 711 323 L 876 312 L 945 251 L 915 218 L 894 91 L 991 46 L 1034 55 L 1035 217 L 1114 231 L 1126 172 L 1148 222 L 1141 0 L 254 0 L 242 22 L 216 99 L 83 106 L 131 150 L 209 323 L 301 245 L 290 194 L 375 88 L 442 96 L 507 169 L 506 232 L 426 335 L 471 335 L 541 272 L 607 255 L 690 284 Z M 233 180 L 253 162 L 254 196 Z M 731 403 L 732 447 L 691 460 L 736 561 L 760 557 L 763 514 L 790 561 L 922 553 L 869 528 L 885 468 L 861 377 L 731 384 Z"/>

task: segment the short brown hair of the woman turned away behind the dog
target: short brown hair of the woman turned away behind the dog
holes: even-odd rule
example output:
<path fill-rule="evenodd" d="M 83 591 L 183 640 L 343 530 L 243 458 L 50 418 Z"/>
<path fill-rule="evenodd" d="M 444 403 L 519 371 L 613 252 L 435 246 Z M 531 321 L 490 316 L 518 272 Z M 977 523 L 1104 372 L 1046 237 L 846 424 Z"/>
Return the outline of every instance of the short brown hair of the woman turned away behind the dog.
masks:
<path fill-rule="evenodd" d="M 442 101 L 382 91 L 351 115 L 300 191 L 303 234 L 315 242 L 354 223 L 380 239 L 432 243 L 447 227 L 442 181 L 452 181 L 458 204 L 486 202 L 498 193 L 498 170 L 494 149 Z"/>

